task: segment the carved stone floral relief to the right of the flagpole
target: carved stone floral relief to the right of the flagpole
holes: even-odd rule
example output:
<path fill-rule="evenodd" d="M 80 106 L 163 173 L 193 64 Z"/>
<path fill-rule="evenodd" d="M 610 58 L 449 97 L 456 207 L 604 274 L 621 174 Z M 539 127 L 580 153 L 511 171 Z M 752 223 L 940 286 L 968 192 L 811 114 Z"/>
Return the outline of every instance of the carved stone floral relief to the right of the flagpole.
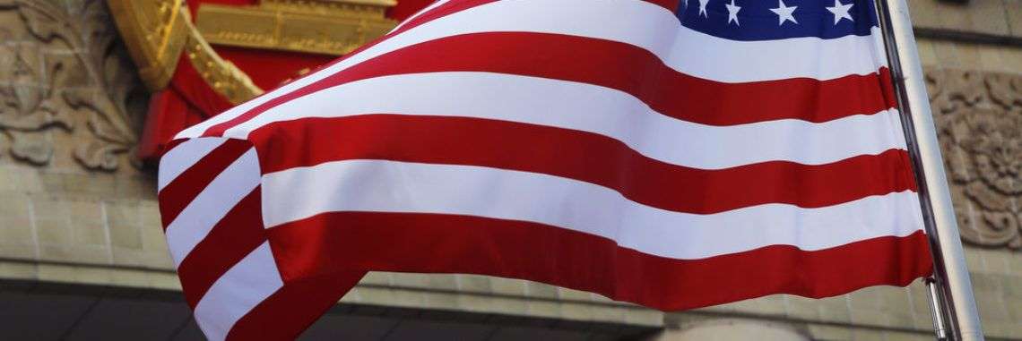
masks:
<path fill-rule="evenodd" d="M 934 69 L 927 81 L 962 238 L 1022 248 L 1022 75 Z"/>

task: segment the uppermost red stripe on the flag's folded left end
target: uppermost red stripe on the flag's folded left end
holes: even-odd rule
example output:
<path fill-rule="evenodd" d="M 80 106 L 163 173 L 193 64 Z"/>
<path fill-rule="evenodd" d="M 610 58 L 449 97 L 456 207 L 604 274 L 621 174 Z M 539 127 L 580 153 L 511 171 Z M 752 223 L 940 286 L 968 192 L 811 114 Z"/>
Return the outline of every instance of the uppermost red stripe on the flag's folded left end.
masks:
<path fill-rule="evenodd" d="M 178 148 L 189 148 L 188 144 Z M 164 230 L 188 206 L 206 186 L 213 182 L 227 166 L 231 165 L 242 154 L 251 149 L 251 144 L 241 140 L 227 140 L 194 165 L 174 179 L 164 187 L 157 198 L 159 200 L 159 215 Z"/>

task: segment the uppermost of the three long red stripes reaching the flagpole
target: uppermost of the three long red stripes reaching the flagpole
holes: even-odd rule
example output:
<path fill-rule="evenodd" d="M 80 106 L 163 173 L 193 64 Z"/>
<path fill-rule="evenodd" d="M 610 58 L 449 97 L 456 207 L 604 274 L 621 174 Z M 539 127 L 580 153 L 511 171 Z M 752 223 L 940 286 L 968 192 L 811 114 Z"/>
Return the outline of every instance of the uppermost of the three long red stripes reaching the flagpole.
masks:
<path fill-rule="evenodd" d="M 782 118 L 814 123 L 893 107 L 879 86 L 887 68 L 834 80 L 807 78 L 722 83 L 679 72 L 655 54 L 600 39 L 539 33 L 482 33 L 437 39 L 352 66 L 235 119 L 212 127 L 220 136 L 284 102 L 330 87 L 382 76 L 486 71 L 587 83 L 632 94 L 667 116 L 732 126 Z M 689 99 L 689 100 L 686 100 Z"/>

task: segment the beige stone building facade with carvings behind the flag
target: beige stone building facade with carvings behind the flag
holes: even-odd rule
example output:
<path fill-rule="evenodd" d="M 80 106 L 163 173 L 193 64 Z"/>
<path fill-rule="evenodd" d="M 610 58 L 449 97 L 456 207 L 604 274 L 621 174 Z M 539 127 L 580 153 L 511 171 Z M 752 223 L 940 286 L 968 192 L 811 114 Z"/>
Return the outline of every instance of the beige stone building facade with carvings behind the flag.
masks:
<path fill-rule="evenodd" d="M 910 1 L 983 332 L 1022 340 L 1022 0 Z M 0 339 L 200 338 L 147 92 L 95 0 L 0 0 Z M 110 334 L 113 333 L 113 334 Z M 310 339 L 929 340 L 922 283 L 660 312 L 518 280 L 372 273 Z"/>

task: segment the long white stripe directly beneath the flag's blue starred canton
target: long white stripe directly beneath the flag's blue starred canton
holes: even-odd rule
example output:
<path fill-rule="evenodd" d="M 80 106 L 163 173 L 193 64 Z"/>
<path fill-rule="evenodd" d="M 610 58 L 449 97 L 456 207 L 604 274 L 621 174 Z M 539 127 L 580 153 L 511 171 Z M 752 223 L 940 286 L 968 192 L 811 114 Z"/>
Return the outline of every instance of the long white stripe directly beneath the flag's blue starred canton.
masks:
<path fill-rule="evenodd" d="M 614 19 L 607 20 L 608 17 Z M 879 29 L 873 30 L 873 36 L 866 37 L 743 42 L 682 27 L 669 11 L 644 1 L 562 0 L 556 4 L 549 0 L 499 1 L 412 28 L 323 70 L 195 125 L 178 137 L 199 136 L 214 125 L 384 53 L 444 37 L 485 32 L 549 33 L 623 42 L 655 53 L 681 72 L 721 82 L 790 78 L 828 80 L 875 72 L 884 64 L 883 50 L 874 51 L 878 46 Z"/>

